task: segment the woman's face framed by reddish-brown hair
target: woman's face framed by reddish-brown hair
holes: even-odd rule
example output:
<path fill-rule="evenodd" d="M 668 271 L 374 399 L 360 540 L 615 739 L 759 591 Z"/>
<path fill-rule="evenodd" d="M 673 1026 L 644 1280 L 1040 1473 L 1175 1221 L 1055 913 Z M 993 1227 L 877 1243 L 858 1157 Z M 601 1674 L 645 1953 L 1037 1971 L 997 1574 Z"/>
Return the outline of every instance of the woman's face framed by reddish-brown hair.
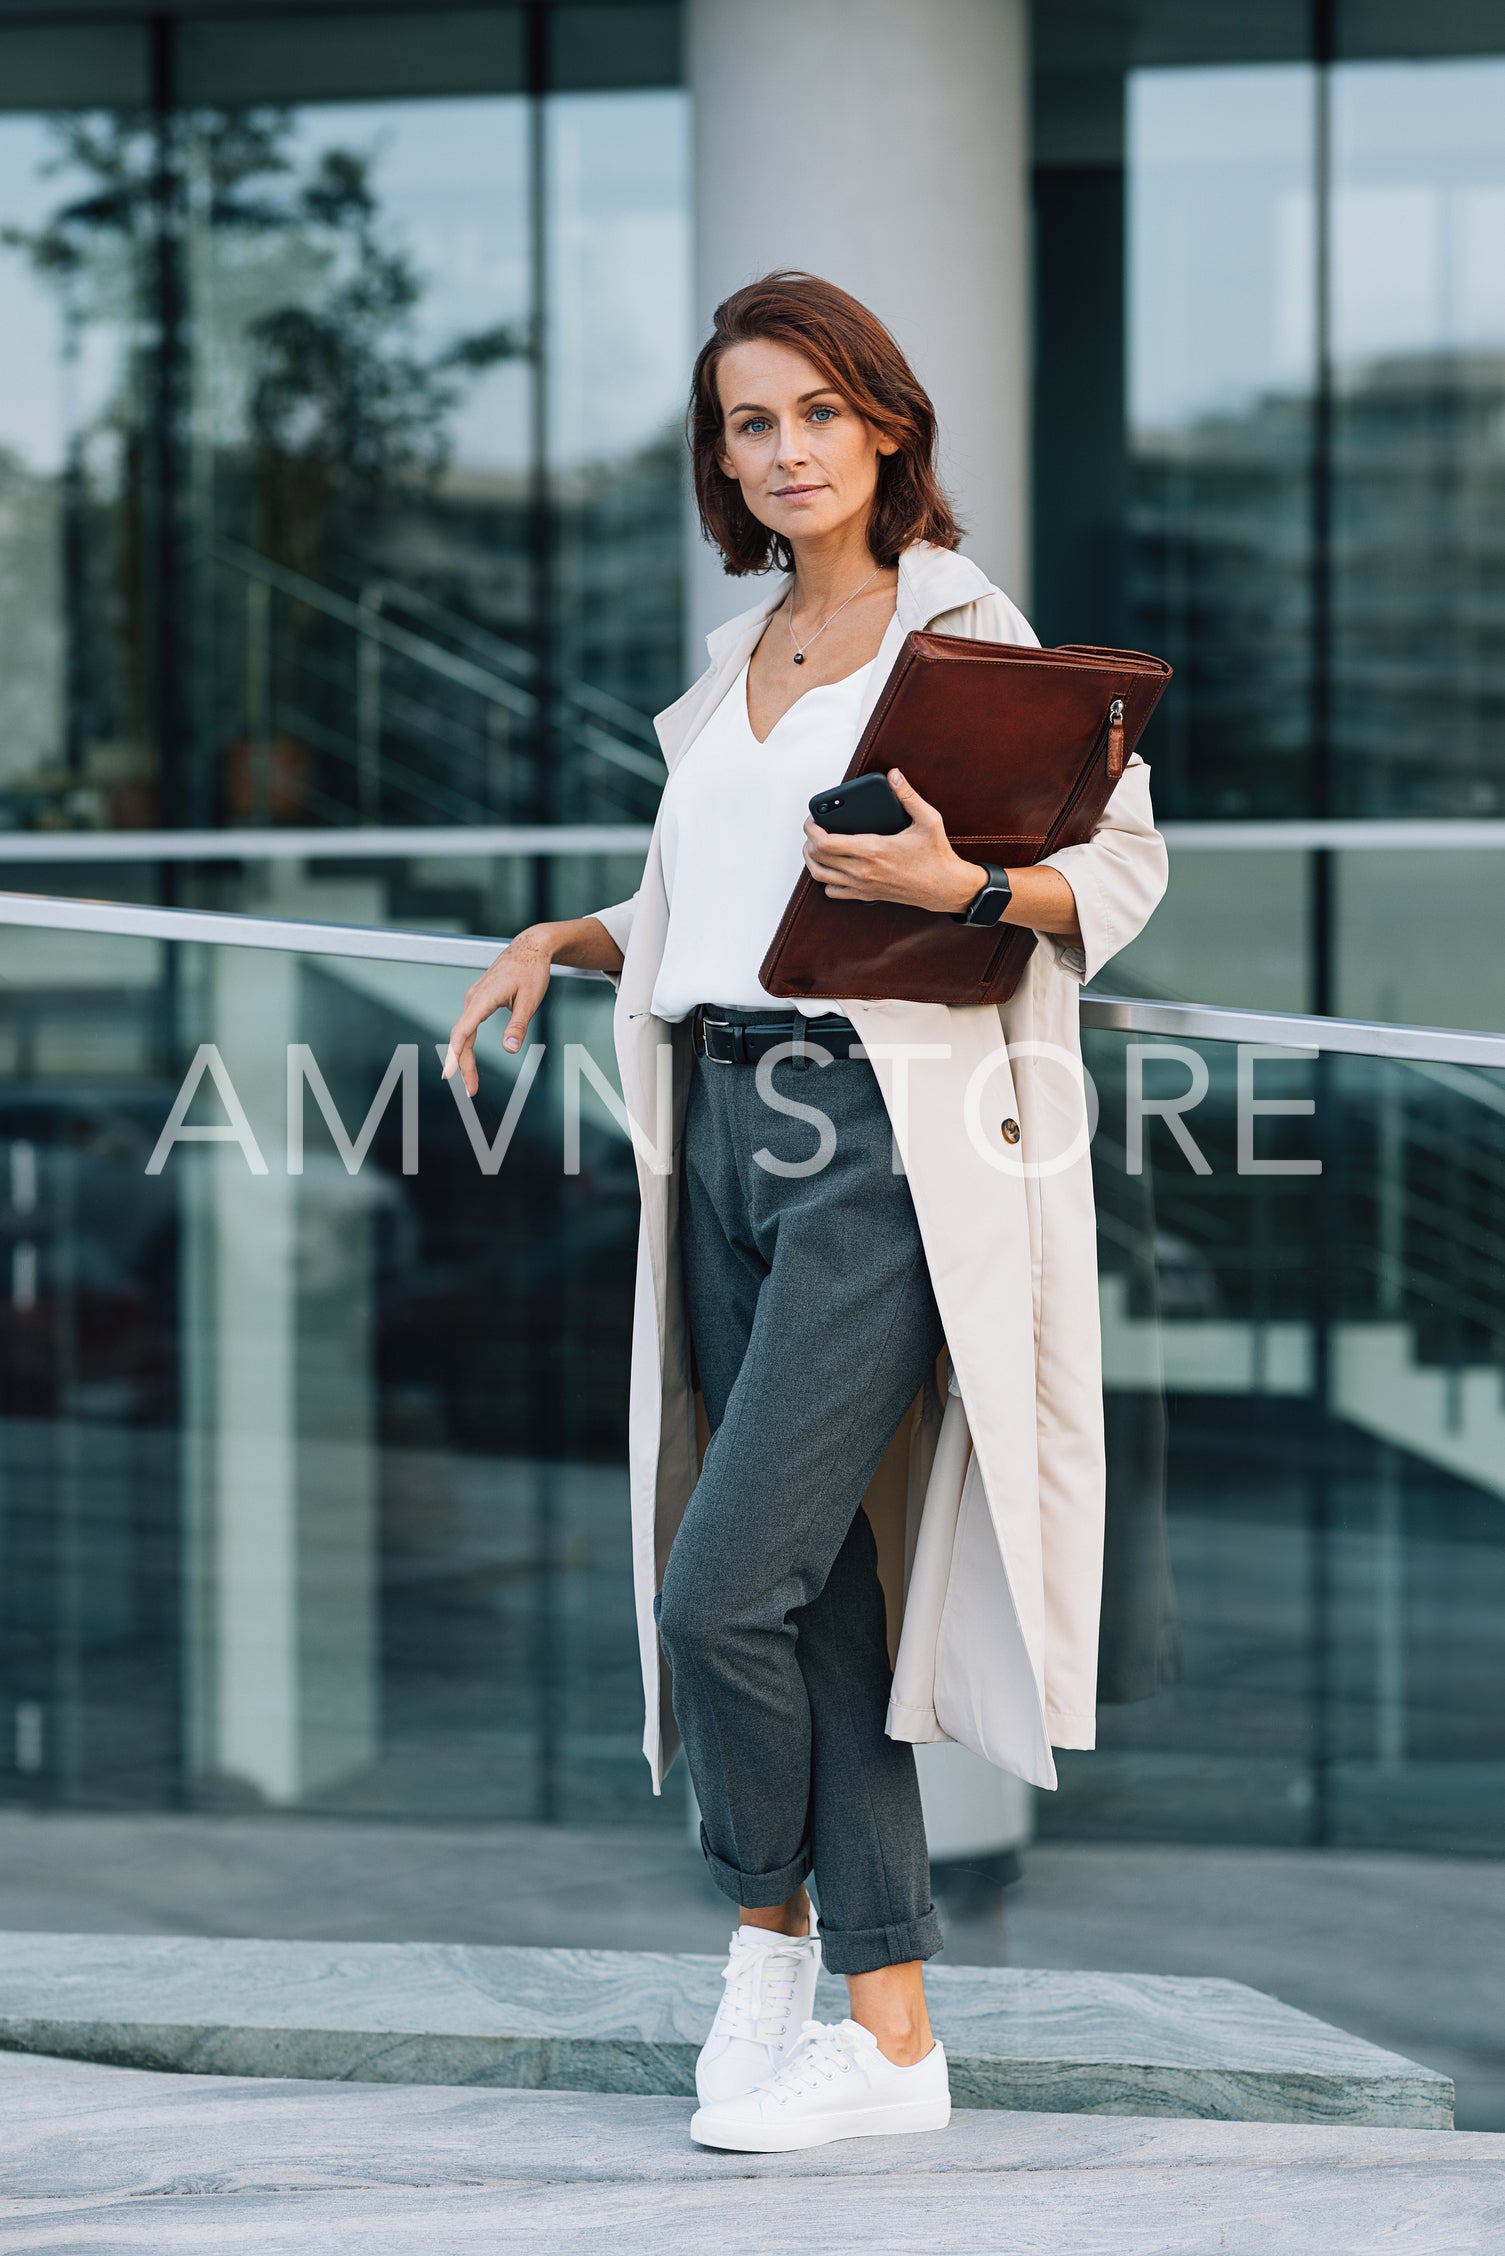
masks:
<path fill-rule="evenodd" d="M 787 541 L 866 530 L 878 460 L 898 453 L 792 345 L 729 345 L 715 370 L 718 460 L 758 523 Z"/>

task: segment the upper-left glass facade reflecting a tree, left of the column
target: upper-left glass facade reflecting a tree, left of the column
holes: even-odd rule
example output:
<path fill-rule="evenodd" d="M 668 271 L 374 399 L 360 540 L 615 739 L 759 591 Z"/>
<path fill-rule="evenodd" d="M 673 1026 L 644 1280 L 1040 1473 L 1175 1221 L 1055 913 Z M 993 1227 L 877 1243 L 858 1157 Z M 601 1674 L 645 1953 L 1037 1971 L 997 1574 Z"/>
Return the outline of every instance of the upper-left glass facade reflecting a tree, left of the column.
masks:
<path fill-rule="evenodd" d="M 0 823 L 652 812 L 672 7 L 0 32 Z"/>

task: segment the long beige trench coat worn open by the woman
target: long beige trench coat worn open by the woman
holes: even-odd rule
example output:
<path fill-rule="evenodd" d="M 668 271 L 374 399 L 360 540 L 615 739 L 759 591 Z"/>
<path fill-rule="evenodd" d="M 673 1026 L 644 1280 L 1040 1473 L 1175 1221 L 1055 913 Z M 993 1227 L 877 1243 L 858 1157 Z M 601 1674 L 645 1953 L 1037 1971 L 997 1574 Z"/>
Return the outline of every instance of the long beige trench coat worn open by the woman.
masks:
<path fill-rule="evenodd" d="M 706 672 L 657 722 L 670 769 L 781 596 L 783 582 L 709 636 Z M 864 720 L 916 627 L 1036 641 L 972 562 L 916 546 L 900 557 Z M 887 1730 L 959 1739 L 1036 1787 L 1056 1784 L 1051 1746 L 1092 1746 L 1097 1730 L 1103 1401 L 1076 997 L 1164 891 L 1144 763 L 1128 765 L 1094 837 L 1051 866 L 1076 893 L 1083 945 L 1040 941 L 1002 1008 L 842 1002 L 894 1119 L 950 1351 L 945 1390 L 925 1387 L 866 1500 L 896 1631 Z M 677 1733 L 652 1602 L 699 1460 L 672 1166 L 693 1060 L 688 1026 L 650 1011 L 668 929 L 657 828 L 641 889 L 596 914 L 623 950 L 616 1056 L 643 1193 L 630 1480 L 643 1753 L 659 1791 Z M 894 1058 L 905 1045 L 927 1054 Z"/>

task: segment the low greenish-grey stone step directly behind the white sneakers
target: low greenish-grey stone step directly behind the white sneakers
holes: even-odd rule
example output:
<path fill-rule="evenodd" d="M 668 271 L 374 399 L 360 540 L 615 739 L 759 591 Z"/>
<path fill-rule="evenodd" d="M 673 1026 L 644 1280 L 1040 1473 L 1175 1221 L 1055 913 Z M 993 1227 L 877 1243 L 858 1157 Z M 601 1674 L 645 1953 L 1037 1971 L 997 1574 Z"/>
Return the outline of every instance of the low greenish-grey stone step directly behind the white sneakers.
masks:
<path fill-rule="evenodd" d="M 0 2046 L 217 2076 L 688 2096 L 720 1960 L 429 1942 L 0 1936 Z M 1451 2127 L 1453 2085 L 1261 1990 L 932 1967 L 959 2107 Z M 821 2019 L 846 2010 L 824 1979 Z"/>

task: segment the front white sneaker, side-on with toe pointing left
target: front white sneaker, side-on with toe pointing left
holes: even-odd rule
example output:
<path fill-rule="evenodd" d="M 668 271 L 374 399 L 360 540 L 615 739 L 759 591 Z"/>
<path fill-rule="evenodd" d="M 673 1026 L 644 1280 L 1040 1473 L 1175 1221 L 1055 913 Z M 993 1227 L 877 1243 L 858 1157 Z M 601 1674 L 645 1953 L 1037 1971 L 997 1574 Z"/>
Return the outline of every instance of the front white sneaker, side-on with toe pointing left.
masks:
<path fill-rule="evenodd" d="M 945 2130 L 952 2098 L 945 2053 L 934 2044 L 912 2069 L 878 2051 L 857 2021 L 806 2021 L 785 2064 L 760 2091 L 715 2100 L 690 2116 L 690 2139 L 738 2154 L 783 2154 L 830 2139 Z"/>

